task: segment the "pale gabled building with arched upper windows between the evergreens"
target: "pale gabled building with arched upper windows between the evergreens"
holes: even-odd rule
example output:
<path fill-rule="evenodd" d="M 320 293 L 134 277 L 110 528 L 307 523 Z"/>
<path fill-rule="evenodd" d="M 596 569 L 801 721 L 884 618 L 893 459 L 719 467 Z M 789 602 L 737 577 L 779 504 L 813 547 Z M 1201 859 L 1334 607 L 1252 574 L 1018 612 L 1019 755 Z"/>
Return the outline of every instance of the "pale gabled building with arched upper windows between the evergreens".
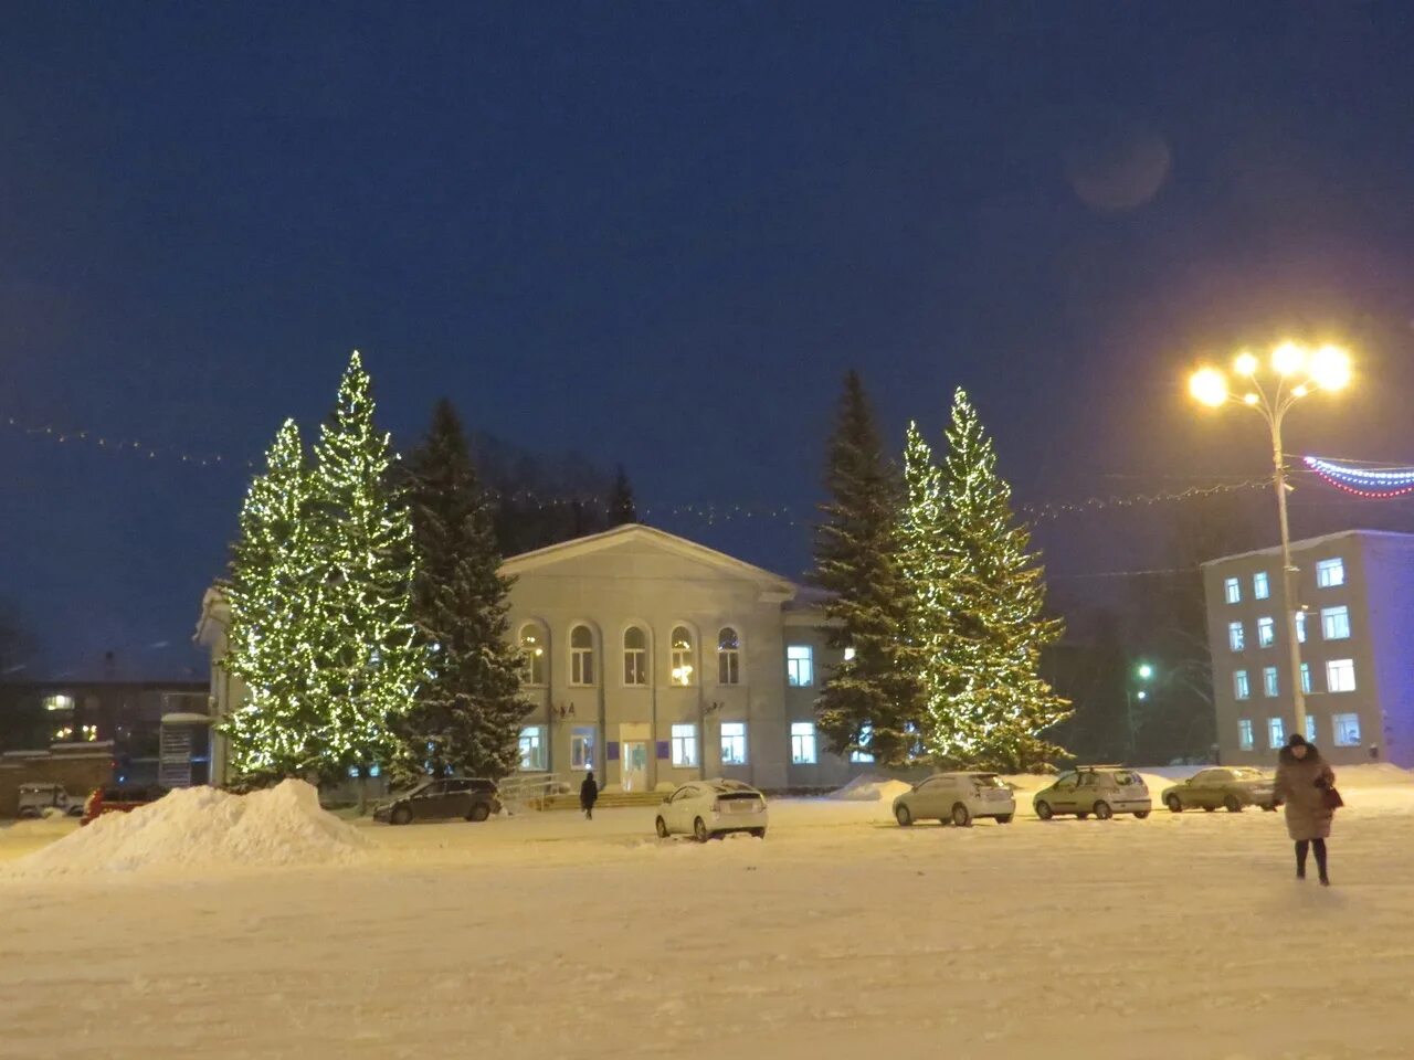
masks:
<path fill-rule="evenodd" d="M 810 591 L 645 526 L 516 555 L 509 636 L 529 704 L 520 772 L 592 769 L 608 790 L 650 791 L 700 777 L 768 790 L 834 787 L 867 756 L 824 750 L 820 685 L 840 661 Z M 228 616 L 208 591 L 198 640 L 225 714 L 239 683 L 221 666 Z M 218 736 L 215 783 L 225 780 Z"/>

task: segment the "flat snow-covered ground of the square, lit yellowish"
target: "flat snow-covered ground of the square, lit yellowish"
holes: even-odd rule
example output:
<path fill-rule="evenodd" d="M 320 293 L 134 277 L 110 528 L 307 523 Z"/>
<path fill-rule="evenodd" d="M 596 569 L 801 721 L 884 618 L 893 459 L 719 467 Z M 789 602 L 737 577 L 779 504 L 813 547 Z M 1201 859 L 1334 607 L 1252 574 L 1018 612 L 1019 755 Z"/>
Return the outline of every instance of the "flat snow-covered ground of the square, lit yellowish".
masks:
<path fill-rule="evenodd" d="M 1329 890 L 1277 814 L 1029 799 L 967 830 L 773 801 L 701 847 L 649 810 L 362 824 L 352 862 L 168 875 L 16 876 L 72 831 L 16 824 L 0 1056 L 1408 1057 L 1414 783 L 1342 791 Z"/>

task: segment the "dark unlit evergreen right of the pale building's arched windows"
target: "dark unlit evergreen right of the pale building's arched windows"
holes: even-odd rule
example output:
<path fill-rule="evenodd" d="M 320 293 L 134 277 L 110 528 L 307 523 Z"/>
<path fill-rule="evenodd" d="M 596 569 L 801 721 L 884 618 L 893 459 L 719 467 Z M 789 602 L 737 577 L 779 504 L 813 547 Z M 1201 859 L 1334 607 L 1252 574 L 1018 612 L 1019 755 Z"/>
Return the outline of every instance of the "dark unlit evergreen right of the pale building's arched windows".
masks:
<path fill-rule="evenodd" d="M 830 594 L 826 613 L 837 623 L 831 646 L 850 657 L 820 693 L 820 732 L 834 753 L 867 749 L 881 765 L 896 765 L 913 752 L 919 694 L 904 639 L 898 483 L 855 372 L 844 380 L 826 488 L 814 581 Z"/>

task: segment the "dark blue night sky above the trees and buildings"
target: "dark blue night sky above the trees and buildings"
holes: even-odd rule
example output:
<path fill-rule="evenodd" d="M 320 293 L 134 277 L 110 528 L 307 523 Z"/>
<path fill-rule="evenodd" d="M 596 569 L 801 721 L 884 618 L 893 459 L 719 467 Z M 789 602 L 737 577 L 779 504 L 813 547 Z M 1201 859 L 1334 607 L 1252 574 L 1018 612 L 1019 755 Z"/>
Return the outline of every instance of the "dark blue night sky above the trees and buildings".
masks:
<path fill-rule="evenodd" d="M 402 448 L 448 396 L 648 509 L 789 506 L 653 522 L 792 575 L 851 365 L 891 441 L 966 386 L 1036 503 L 1260 476 L 1260 423 L 1188 369 L 1333 338 L 1356 386 L 1288 448 L 1414 462 L 1411 54 L 1401 3 L 13 4 L 28 673 L 199 661 L 239 462 L 312 431 L 354 348 Z M 1297 534 L 1414 530 L 1301 485 Z M 1162 563 L 1171 509 L 1042 523 L 1058 599 Z"/>

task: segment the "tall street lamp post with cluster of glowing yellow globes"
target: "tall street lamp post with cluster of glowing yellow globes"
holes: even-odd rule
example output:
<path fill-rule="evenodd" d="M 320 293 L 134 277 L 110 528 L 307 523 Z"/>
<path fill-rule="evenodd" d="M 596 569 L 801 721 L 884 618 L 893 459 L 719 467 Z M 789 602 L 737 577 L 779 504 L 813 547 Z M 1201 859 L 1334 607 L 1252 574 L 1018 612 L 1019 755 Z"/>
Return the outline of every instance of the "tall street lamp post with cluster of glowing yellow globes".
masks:
<path fill-rule="evenodd" d="M 1291 564 L 1291 531 L 1287 523 L 1287 465 L 1281 448 L 1281 425 L 1287 413 L 1302 397 L 1318 390 L 1342 390 L 1350 382 L 1350 356 L 1339 346 L 1308 349 L 1282 342 L 1271 351 L 1267 369 L 1249 351 L 1233 362 L 1233 375 L 1241 393 L 1233 393 L 1227 376 L 1216 367 L 1202 367 L 1189 380 L 1189 391 L 1202 404 L 1216 408 L 1233 401 L 1257 411 L 1271 434 L 1271 482 L 1277 490 L 1277 517 L 1281 523 L 1281 595 L 1287 611 L 1287 644 L 1291 701 L 1295 707 L 1295 732 L 1307 731 L 1307 697 L 1301 687 L 1301 644 L 1297 640 L 1297 570 Z"/>

